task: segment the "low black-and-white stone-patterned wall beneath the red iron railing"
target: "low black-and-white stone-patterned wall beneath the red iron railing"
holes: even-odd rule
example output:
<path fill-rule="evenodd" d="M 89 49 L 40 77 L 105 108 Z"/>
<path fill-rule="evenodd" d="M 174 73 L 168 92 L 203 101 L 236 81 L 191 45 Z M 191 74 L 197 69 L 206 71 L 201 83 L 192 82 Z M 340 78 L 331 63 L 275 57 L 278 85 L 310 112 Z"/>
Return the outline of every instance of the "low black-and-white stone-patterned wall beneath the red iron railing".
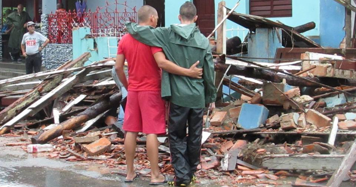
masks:
<path fill-rule="evenodd" d="M 42 66 L 55 69 L 73 59 L 72 44 L 48 43 L 42 52 Z"/>

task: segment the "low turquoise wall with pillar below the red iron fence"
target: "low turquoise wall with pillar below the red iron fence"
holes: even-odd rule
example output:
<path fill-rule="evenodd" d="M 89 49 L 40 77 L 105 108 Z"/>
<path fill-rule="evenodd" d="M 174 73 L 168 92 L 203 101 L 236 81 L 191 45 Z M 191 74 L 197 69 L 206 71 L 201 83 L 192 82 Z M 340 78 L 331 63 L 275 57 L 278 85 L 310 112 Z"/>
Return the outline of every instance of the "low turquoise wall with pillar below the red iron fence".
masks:
<path fill-rule="evenodd" d="M 88 65 L 94 61 L 100 61 L 104 58 L 116 56 L 117 38 L 85 37 L 89 34 L 89 27 L 80 27 L 78 30 L 73 31 L 73 59 L 79 57 L 84 52 L 90 52 L 91 57 L 89 58 L 89 61 L 85 63 L 85 65 Z M 96 47 L 94 46 L 94 42 L 96 43 Z"/>

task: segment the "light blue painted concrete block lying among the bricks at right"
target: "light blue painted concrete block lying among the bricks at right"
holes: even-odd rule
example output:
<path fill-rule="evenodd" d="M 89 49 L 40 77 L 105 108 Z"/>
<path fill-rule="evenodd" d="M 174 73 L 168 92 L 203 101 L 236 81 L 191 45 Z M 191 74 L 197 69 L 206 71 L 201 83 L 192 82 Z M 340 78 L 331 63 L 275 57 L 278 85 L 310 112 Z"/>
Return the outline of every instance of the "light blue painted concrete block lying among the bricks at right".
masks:
<path fill-rule="evenodd" d="M 239 124 L 244 129 L 255 129 L 264 124 L 268 118 L 269 110 L 261 105 L 244 103 L 239 115 Z"/>

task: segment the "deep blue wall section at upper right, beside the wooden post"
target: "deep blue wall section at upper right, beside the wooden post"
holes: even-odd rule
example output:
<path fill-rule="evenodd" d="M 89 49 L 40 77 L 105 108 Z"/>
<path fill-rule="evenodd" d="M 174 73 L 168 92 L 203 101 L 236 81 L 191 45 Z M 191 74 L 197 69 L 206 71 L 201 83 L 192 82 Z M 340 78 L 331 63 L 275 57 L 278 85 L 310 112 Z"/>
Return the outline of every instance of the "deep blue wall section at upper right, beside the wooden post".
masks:
<path fill-rule="evenodd" d="M 345 8 L 335 1 L 320 0 L 320 44 L 340 46 L 345 37 Z"/>

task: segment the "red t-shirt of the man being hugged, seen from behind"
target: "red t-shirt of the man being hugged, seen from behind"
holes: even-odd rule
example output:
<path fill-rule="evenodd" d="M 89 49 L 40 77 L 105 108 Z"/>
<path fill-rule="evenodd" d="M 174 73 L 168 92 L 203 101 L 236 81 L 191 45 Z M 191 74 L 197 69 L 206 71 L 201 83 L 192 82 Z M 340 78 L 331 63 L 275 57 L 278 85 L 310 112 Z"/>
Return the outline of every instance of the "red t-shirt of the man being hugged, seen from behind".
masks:
<path fill-rule="evenodd" d="M 128 91 L 161 91 L 162 70 L 153 54 L 162 48 L 143 44 L 130 34 L 122 36 L 117 54 L 124 54 L 129 66 Z"/>

